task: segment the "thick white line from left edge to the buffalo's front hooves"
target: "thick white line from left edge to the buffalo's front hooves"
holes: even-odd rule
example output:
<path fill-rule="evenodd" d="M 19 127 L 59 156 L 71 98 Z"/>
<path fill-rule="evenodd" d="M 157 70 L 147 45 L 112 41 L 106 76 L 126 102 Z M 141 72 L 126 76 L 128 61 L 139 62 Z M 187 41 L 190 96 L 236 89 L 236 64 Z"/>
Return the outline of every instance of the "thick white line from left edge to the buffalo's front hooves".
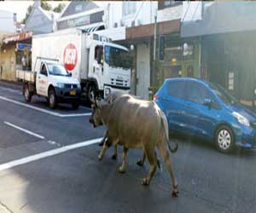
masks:
<path fill-rule="evenodd" d="M 67 151 L 77 149 L 77 148 L 80 148 L 80 147 L 86 147 L 86 146 L 89 146 L 91 144 L 98 143 L 100 141 L 102 141 L 102 138 L 96 138 L 96 139 L 93 139 L 93 140 L 90 140 L 90 141 L 83 141 L 83 142 L 75 143 L 75 144 L 72 144 L 72 145 L 68 145 L 66 147 L 55 148 L 53 150 L 49 150 L 49 151 L 46 151 L 44 153 L 34 154 L 34 155 L 28 156 L 26 158 L 20 158 L 20 159 L 10 161 L 10 162 L 5 163 L 5 164 L 0 164 L 0 171 L 8 170 L 8 169 L 13 168 L 15 166 L 22 165 L 22 164 L 27 164 L 27 163 L 30 163 L 30 162 L 33 162 L 33 161 L 36 161 L 36 160 L 39 160 L 39 159 L 42 159 L 42 158 L 48 158 L 48 157 L 56 155 L 56 154 L 65 153 Z"/>

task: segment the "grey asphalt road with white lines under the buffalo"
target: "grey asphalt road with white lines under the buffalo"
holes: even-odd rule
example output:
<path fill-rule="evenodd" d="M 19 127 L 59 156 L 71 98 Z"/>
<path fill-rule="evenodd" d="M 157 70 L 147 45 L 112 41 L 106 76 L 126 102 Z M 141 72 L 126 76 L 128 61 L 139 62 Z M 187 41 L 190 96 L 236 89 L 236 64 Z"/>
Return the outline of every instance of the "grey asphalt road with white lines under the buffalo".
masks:
<path fill-rule="evenodd" d="M 172 139 L 179 145 L 173 199 L 163 163 L 149 187 L 140 184 L 148 172 L 136 164 L 141 151 L 129 151 L 124 175 L 121 147 L 117 160 L 110 149 L 98 161 L 101 147 L 90 142 L 104 128 L 93 129 L 89 114 L 68 105 L 52 111 L 38 97 L 27 106 L 19 86 L 0 82 L 1 213 L 256 212 L 255 151 L 224 155 L 207 141 Z"/>

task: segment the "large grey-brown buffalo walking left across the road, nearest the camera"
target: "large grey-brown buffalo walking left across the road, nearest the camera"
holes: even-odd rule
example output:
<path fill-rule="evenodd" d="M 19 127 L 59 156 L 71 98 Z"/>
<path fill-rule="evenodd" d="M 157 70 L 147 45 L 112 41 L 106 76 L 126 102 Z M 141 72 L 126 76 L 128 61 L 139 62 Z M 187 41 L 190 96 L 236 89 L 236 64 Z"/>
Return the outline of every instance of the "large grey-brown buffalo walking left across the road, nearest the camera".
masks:
<path fill-rule="evenodd" d="M 167 170 L 172 178 L 172 196 L 177 197 L 177 182 L 172 170 L 169 150 L 168 123 L 165 114 L 153 101 L 138 100 L 131 95 L 120 95 L 112 103 L 96 101 L 90 121 L 94 126 L 104 124 L 107 128 L 108 140 L 104 143 L 99 159 L 103 158 L 109 145 L 124 146 L 123 164 L 119 172 L 125 172 L 126 154 L 129 148 L 143 149 L 150 170 L 148 176 L 143 178 L 142 184 L 148 185 L 157 166 L 154 147 L 158 147 Z"/>

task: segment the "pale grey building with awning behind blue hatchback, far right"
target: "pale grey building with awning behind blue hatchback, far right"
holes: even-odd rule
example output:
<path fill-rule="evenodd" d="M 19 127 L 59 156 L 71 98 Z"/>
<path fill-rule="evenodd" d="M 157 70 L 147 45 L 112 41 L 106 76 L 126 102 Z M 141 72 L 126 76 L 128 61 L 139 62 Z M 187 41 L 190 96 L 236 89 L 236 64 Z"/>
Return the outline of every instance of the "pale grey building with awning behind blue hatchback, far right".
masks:
<path fill-rule="evenodd" d="M 256 95 L 256 3 L 198 3 L 182 23 L 184 39 L 201 43 L 201 78 L 221 84 L 247 106 Z M 193 14 L 194 10 L 194 16 Z"/>

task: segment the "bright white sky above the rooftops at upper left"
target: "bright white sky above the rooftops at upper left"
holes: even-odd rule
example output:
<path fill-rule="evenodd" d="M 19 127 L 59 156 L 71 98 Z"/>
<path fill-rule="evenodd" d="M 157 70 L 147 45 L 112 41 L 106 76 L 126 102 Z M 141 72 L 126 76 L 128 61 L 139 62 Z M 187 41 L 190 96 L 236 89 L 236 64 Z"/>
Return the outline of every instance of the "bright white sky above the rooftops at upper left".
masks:
<path fill-rule="evenodd" d="M 52 8 L 55 8 L 59 3 L 67 4 L 67 1 L 49 1 Z M 33 1 L 20 1 L 20 0 L 9 0 L 0 2 L 0 9 L 14 12 L 17 14 L 17 20 L 23 20 L 26 15 L 26 9 L 33 4 Z"/>

